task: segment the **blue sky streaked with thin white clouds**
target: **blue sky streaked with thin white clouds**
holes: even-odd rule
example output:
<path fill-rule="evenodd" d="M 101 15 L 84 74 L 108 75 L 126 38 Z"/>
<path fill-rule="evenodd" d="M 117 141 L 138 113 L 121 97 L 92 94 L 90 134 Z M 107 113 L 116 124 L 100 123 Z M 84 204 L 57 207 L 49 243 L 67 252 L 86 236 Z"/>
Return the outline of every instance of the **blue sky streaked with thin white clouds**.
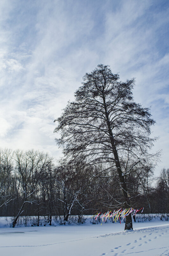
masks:
<path fill-rule="evenodd" d="M 58 159 L 53 133 L 62 109 L 98 64 L 151 106 L 162 149 L 155 174 L 169 168 L 168 0 L 1 0 L 0 147 Z"/>

